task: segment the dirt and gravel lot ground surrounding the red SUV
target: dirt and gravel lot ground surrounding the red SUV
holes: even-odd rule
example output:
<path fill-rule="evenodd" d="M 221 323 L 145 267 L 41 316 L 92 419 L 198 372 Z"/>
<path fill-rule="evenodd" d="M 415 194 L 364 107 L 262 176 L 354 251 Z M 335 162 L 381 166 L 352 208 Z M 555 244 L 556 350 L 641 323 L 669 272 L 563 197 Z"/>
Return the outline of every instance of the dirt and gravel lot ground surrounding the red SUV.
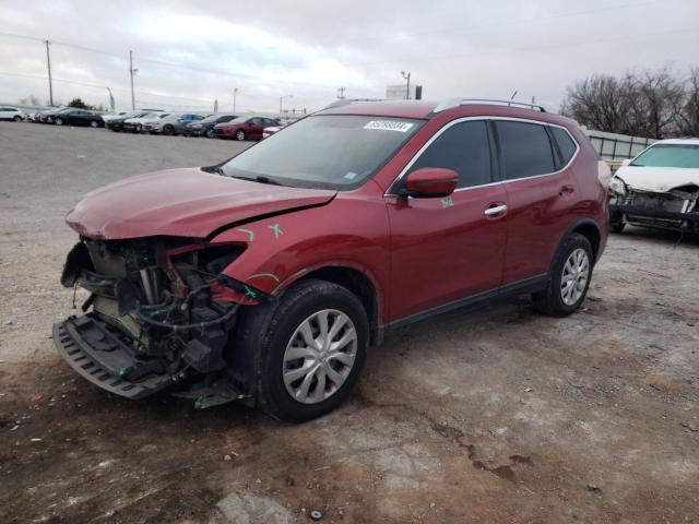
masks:
<path fill-rule="evenodd" d="M 130 402 L 58 357 L 63 215 L 241 144 L 0 123 L 0 522 L 699 523 L 699 240 L 613 236 L 583 309 L 522 298 L 374 348 L 335 413 Z"/>

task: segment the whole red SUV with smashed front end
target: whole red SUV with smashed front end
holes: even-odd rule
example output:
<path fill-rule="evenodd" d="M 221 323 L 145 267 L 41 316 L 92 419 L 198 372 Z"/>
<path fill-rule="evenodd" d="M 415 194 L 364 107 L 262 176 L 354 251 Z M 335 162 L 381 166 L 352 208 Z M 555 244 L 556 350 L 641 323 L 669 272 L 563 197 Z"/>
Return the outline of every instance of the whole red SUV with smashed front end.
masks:
<path fill-rule="evenodd" d="M 576 122 L 534 107 L 343 100 L 90 193 L 61 278 L 90 298 L 54 340 L 119 395 L 307 420 L 387 331 L 516 294 L 574 312 L 607 239 L 601 175 Z"/>

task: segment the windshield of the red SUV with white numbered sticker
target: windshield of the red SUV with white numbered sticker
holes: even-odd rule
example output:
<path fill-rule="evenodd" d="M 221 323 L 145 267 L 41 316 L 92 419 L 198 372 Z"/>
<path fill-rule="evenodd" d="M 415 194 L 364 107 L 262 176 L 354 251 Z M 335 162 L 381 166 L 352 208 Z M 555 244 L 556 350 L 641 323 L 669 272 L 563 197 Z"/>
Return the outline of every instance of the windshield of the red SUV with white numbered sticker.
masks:
<path fill-rule="evenodd" d="M 264 177 L 284 186 L 360 186 L 420 127 L 391 117 L 307 117 L 224 164 L 229 177 Z"/>

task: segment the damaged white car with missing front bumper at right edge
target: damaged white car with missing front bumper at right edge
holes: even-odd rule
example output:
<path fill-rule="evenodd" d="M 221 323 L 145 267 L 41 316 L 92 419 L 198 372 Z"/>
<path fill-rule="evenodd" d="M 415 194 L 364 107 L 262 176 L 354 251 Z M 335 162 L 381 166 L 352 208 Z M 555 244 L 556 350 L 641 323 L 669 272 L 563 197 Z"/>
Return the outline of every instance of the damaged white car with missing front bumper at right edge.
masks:
<path fill-rule="evenodd" d="M 609 181 L 609 221 L 699 234 L 699 139 L 661 140 Z"/>

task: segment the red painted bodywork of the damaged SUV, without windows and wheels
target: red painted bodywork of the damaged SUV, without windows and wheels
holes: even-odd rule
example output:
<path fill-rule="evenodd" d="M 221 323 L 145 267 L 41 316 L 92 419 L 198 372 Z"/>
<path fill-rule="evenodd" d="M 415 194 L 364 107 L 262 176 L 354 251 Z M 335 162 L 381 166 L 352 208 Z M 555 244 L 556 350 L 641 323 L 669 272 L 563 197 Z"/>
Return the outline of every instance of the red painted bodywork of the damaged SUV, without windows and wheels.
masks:
<path fill-rule="evenodd" d="M 362 187 L 345 192 L 235 180 L 199 169 L 135 177 L 94 191 L 68 223 L 94 238 L 157 235 L 246 243 L 224 274 L 279 295 L 313 270 L 352 267 L 372 283 L 379 324 L 547 273 L 566 231 L 579 221 L 607 237 L 605 188 L 594 150 L 571 120 L 514 107 L 464 105 L 433 114 L 427 102 L 356 103 L 320 115 L 424 119 L 420 129 Z M 449 200 L 387 194 L 414 155 L 445 124 L 464 117 L 506 117 L 566 127 L 580 144 L 559 174 L 495 182 Z M 507 212 L 485 216 L 493 205 Z M 239 294 L 216 289 L 222 300 Z"/>

